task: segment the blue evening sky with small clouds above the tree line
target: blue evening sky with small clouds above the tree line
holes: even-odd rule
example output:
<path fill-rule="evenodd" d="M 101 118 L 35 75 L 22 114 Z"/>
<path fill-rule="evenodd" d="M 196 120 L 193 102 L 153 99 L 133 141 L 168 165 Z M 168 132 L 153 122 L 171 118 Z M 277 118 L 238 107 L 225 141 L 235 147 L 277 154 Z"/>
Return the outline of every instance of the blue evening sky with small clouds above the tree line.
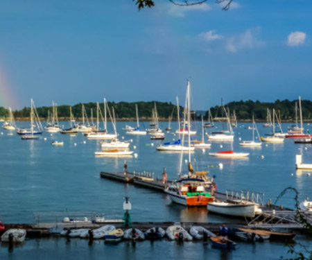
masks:
<path fill-rule="evenodd" d="M 0 106 L 312 99 L 312 1 L 0 0 Z"/>

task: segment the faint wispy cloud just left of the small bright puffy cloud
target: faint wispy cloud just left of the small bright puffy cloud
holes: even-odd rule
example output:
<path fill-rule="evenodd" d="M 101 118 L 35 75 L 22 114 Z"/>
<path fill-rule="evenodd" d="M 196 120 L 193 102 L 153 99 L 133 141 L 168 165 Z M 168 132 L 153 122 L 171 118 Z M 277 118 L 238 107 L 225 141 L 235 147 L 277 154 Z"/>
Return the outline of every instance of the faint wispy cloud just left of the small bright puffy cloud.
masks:
<path fill-rule="evenodd" d="M 253 49 L 264 44 L 264 42 L 258 40 L 256 35 L 259 33 L 259 28 L 256 30 L 248 29 L 241 35 L 229 37 L 227 40 L 226 49 L 232 53 L 236 53 L 240 49 Z"/>

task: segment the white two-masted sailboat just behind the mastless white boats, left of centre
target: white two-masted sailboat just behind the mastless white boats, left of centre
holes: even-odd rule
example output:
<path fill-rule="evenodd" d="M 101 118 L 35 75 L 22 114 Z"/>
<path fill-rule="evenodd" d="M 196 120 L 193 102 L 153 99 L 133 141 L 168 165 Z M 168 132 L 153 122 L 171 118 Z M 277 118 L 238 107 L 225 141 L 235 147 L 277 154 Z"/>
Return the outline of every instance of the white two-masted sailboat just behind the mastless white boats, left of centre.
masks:
<path fill-rule="evenodd" d="M 103 131 L 92 131 L 90 132 L 88 135 L 87 135 L 87 138 L 88 139 L 113 139 L 113 138 L 116 138 L 117 135 L 116 135 L 116 131 L 114 134 L 110 134 L 107 132 L 107 110 L 108 110 L 108 113 L 110 115 L 110 119 L 112 121 L 112 125 L 114 127 L 114 121 L 112 119 L 112 114 L 110 114 L 110 109 L 107 105 L 107 102 L 106 102 L 106 98 L 104 98 L 104 119 L 103 119 L 103 116 L 102 116 L 102 112 L 100 110 L 100 107 L 97 103 L 97 112 L 96 112 L 96 120 L 97 120 L 97 129 L 98 129 L 98 112 L 100 112 L 101 116 L 102 116 L 102 119 L 103 119 L 103 123 L 104 123 L 104 130 Z M 115 128 L 115 127 L 114 127 Z"/>

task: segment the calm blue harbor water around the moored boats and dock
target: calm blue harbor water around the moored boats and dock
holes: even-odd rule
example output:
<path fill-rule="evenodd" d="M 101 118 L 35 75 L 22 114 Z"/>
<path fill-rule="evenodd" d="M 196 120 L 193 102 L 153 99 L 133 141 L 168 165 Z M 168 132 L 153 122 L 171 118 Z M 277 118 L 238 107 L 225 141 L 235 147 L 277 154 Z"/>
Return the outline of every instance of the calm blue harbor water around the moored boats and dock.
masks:
<path fill-rule="evenodd" d="M 17 125 L 28 127 L 28 122 L 17 122 Z M 67 123 L 64 125 L 68 126 Z M 239 123 L 239 127 L 235 129 L 234 140 L 234 150 L 248 151 L 250 153 L 248 159 L 210 157 L 208 155 L 210 151 L 231 148 L 229 142 L 212 142 L 211 148 L 206 148 L 205 151 L 196 150 L 193 153 L 192 156 L 196 158 L 194 163 L 196 170 L 208 170 L 211 175 L 216 175 L 219 191 L 226 189 L 259 191 L 265 193 L 266 201 L 272 198 L 274 202 L 284 188 L 291 186 L 300 192 L 300 200 L 304 200 L 306 196 L 312 198 L 312 176 L 308 175 L 309 171 L 295 171 L 295 155 L 303 153 L 304 162 L 312 162 L 312 146 L 294 144 L 293 139 L 286 139 L 284 144 L 264 143 L 261 148 L 243 148 L 239 146 L 239 138 L 252 139 L 252 130 L 245 129 L 248 125 L 251 124 Z M 125 139 L 132 139 L 130 147 L 137 153 L 137 157 L 126 159 L 129 171 L 150 171 L 161 176 L 163 167 L 166 167 L 169 179 L 177 177 L 180 153 L 157 152 L 156 146 L 163 141 L 152 141 L 148 136 L 127 136 L 121 129 L 124 126 L 124 122 L 117 123 L 119 135 Z M 220 130 L 221 124 L 216 123 L 216 126 L 217 128 L 212 130 Z M 270 133 L 270 128 L 263 128 L 261 124 L 258 127 L 260 135 Z M 166 128 L 166 123 L 162 123 L 162 128 Z M 197 128 L 200 139 L 200 123 L 197 123 Z M 287 125 L 283 125 L 283 128 L 286 131 Z M 311 129 L 311 125 L 305 125 L 305 128 Z M 107 217 L 121 217 L 125 196 L 130 196 L 132 202 L 130 214 L 133 221 L 229 221 L 216 215 L 208 216 L 206 209 L 187 209 L 180 205 L 172 205 L 162 193 L 101 179 L 101 171 L 122 171 L 125 159 L 95 157 L 94 152 L 101 149 L 100 141 L 88 140 L 81 134 L 76 137 L 60 133 L 51 136 L 46 132 L 40 140 L 22 141 L 16 134 L 8 136 L 8 131 L 2 130 L 2 132 L 3 135 L 0 135 L 0 220 L 4 223 L 33 223 L 33 213 L 38 211 L 97 211 L 105 213 Z M 165 141 L 173 139 L 177 139 L 177 136 L 166 134 Z M 53 140 L 64 141 L 64 146 L 51 146 Z M 223 146 L 222 149 L 220 145 Z M 223 164 L 222 170 L 216 168 L 220 163 Z M 183 167 L 187 171 L 187 163 L 184 161 Z M 293 207 L 293 197 L 294 194 L 288 193 L 281 198 L 279 204 Z M 81 243 L 85 246 L 80 246 Z M 155 250 L 155 254 L 149 254 L 149 258 L 150 256 L 158 258 L 158 252 L 162 252 L 164 248 L 168 250 L 166 255 L 170 255 L 172 259 L 179 257 L 180 254 L 183 254 L 184 259 L 192 259 L 189 248 L 193 252 L 196 251 L 201 258 L 205 254 L 218 259 L 238 259 L 243 254 L 240 250 L 236 250 L 224 258 L 223 253 L 211 250 L 209 245 L 202 245 L 202 243 L 187 243 L 182 247 L 175 244 L 168 247 L 168 243 L 165 241 L 155 244 L 139 243 L 135 251 L 132 246 L 125 243 L 119 245 L 118 254 L 127 258 L 128 253 L 132 252 L 130 259 L 144 259 L 146 252 Z M 283 252 L 283 246 L 277 243 L 263 243 L 248 245 L 246 250 L 249 250 L 250 254 L 263 250 L 269 254 L 273 250 Z M 103 241 L 90 248 L 86 241 L 80 240 L 71 243 L 65 243 L 62 239 L 31 240 L 21 248 L 17 248 L 12 259 L 23 258 L 24 252 L 28 252 L 29 258 L 32 254 L 40 258 L 46 250 L 53 251 L 55 248 L 58 254 L 68 254 L 69 259 L 73 251 L 76 252 L 76 256 L 87 256 L 91 259 L 96 259 L 104 252 L 117 252 L 112 246 L 103 246 Z M 94 248 L 96 250 L 93 250 Z M 0 252 L 6 254 L 7 250 L 1 249 Z M 257 259 L 257 255 L 255 254 L 254 258 Z M 278 258 L 274 254 L 271 257 Z"/>

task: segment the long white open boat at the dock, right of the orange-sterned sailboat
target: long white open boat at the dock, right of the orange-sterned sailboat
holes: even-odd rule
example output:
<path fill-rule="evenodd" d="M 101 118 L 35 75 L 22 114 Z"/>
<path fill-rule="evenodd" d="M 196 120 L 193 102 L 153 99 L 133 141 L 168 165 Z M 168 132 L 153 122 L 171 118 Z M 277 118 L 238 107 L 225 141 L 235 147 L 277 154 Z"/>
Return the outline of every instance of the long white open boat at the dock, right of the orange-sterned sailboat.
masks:
<path fill-rule="evenodd" d="M 229 202 L 211 202 L 207 205 L 207 209 L 210 212 L 239 217 L 254 217 L 256 214 L 256 208 L 257 205 L 252 203 L 234 204 Z"/>

